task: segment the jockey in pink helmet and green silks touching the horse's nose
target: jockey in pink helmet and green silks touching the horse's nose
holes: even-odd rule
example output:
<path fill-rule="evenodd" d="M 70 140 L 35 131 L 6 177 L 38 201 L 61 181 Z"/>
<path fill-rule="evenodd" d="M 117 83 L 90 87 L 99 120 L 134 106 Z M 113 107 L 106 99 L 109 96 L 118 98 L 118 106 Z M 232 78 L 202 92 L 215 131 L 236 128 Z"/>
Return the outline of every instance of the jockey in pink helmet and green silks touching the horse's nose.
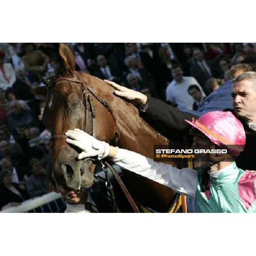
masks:
<path fill-rule="evenodd" d="M 244 149 L 245 132 L 241 122 L 231 113 L 208 112 L 188 121 L 194 135 L 192 148 L 226 149 L 226 154 L 205 153 L 194 158 L 194 169 L 177 169 L 154 162 L 132 151 L 115 148 L 75 129 L 67 131 L 67 143 L 83 152 L 79 159 L 111 157 L 119 166 L 147 177 L 175 192 L 195 198 L 201 212 L 256 212 L 256 176 L 239 169 L 235 157 Z"/>

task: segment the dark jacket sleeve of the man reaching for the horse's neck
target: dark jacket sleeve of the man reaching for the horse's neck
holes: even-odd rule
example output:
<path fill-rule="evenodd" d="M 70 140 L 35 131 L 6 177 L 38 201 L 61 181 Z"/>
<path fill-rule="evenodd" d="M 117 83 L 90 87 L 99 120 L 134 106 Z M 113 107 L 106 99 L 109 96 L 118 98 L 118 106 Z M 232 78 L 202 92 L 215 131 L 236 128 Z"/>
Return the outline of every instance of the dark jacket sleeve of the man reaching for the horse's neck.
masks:
<path fill-rule="evenodd" d="M 151 97 L 148 98 L 148 109 L 141 113 L 141 116 L 164 137 L 169 137 L 168 134 L 170 132 L 179 132 L 187 135 L 191 126 L 184 119 L 192 120 L 193 117 L 198 118 L 194 114 L 180 111 L 165 102 Z"/>

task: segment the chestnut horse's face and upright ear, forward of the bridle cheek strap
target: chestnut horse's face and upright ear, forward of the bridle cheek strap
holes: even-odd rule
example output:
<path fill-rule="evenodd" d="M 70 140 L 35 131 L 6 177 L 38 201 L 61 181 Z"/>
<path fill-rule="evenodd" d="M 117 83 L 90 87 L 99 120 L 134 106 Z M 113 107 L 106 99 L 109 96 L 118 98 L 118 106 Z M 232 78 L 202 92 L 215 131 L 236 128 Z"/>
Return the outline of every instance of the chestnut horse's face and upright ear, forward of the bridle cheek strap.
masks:
<path fill-rule="evenodd" d="M 47 81 L 46 106 L 43 121 L 51 132 L 51 177 L 66 190 L 77 190 L 93 184 L 92 161 L 78 160 L 81 151 L 67 144 L 67 130 L 79 128 L 86 131 L 87 90 L 79 83 L 75 60 L 67 45 L 59 46 L 58 71 Z M 107 138 L 104 138 L 107 139 Z"/>

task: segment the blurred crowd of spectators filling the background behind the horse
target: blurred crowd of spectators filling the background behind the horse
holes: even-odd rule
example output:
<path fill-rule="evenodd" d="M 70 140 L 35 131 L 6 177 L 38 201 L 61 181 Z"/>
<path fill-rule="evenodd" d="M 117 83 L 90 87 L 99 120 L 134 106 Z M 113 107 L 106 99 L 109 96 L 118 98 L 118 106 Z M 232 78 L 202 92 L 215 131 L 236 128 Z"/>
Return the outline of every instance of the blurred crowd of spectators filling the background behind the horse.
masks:
<path fill-rule="evenodd" d="M 76 70 L 196 110 L 232 78 L 232 67 L 255 69 L 255 43 L 69 43 Z M 50 133 L 45 101 L 31 89 L 58 68 L 58 45 L 0 44 L 0 209 L 50 192 L 45 169 Z"/>

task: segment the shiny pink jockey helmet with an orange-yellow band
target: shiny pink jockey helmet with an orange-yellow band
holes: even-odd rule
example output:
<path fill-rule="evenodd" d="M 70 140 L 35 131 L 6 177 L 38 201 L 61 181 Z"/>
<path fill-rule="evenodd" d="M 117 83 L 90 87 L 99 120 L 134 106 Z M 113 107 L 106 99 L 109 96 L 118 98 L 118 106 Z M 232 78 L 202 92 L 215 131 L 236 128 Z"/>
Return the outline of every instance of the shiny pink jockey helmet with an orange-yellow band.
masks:
<path fill-rule="evenodd" d="M 233 157 L 244 150 L 244 127 L 231 112 L 212 111 L 205 113 L 197 120 L 193 118 L 192 122 L 185 121 L 205 134 L 213 144 L 227 149 Z"/>

